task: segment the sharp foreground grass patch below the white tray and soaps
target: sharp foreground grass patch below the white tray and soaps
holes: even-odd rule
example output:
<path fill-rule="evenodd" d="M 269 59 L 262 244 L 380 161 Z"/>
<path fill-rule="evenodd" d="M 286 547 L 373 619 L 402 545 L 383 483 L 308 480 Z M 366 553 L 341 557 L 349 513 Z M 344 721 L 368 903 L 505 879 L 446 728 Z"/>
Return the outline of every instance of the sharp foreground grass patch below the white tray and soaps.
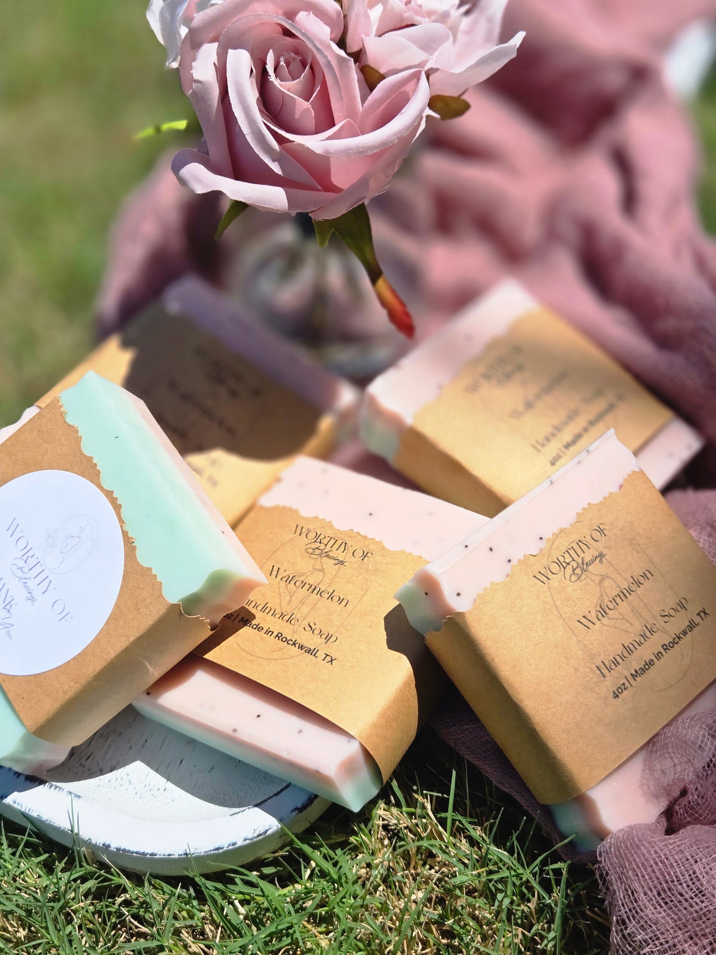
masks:
<path fill-rule="evenodd" d="M 6 825 L 0 879 L 0 950 L 15 953 L 607 950 L 590 870 L 431 732 L 365 812 L 332 808 L 249 868 L 145 879 Z"/>

